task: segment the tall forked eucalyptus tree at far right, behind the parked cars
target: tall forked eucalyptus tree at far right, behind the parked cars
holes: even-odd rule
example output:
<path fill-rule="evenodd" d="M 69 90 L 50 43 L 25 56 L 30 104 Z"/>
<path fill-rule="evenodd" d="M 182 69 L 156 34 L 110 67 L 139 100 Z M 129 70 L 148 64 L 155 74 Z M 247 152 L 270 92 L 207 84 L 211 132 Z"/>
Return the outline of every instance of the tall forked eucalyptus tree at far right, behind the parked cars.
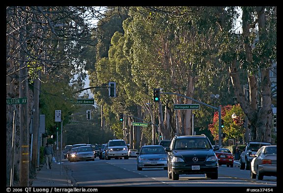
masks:
<path fill-rule="evenodd" d="M 272 109 L 270 70 L 276 63 L 276 7 L 241 7 L 242 34 L 232 31 L 233 21 L 222 8 L 220 33 L 224 38 L 220 60 L 229 69 L 237 100 L 249 119 L 251 140 L 271 142 Z M 239 74 L 248 79 L 249 97 L 244 94 Z"/>

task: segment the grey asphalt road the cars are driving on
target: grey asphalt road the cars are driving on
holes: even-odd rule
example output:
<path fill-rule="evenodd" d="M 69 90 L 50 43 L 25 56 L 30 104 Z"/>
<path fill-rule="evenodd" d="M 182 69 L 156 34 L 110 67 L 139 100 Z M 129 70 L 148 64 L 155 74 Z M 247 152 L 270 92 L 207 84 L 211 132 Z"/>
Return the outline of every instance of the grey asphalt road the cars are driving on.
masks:
<path fill-rule="evenodd" d="M 277 187 L 276 177 L 251 179 L 249 170 L 240 170 L 237 166 L 220 166 L 217 180 L 199 174 L 180 175 L 180 179 L 175 181 L 168 178 L 167 170 L 157 168 L 138 171 L 135 158 L 64 162 L 69 177 L 77 187 Z M 234 165 L 238 163 L 235 162 Z"/>

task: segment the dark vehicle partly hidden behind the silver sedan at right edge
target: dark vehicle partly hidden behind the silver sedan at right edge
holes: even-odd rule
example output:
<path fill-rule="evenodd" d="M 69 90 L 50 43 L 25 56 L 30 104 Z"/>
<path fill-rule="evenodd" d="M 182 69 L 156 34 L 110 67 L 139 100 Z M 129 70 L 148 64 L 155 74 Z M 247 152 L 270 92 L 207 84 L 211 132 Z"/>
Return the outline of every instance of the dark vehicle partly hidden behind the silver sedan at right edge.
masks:
<path fill-rule="evenodd" d="M 269 142 L 249 141 L 240 156 L 240 169 L 250 170 L 255 153 L 263 145 L 271 145 Z"/>

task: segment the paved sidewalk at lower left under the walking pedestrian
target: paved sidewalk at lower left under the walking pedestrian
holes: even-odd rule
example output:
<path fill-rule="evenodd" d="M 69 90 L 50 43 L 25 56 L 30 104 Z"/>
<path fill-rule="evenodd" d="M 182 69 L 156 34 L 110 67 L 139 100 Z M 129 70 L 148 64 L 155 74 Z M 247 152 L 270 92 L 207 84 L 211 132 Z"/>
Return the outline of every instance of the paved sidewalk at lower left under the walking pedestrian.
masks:
<path fill-rule="evenodd" d="M 64 162 L 53 163 L 52 169 L 46 169 L 46 165 L 40 166 L 36 171 L 36 177 L 32 179 L 31 187 L 73 187 L 67 175 Z"/>

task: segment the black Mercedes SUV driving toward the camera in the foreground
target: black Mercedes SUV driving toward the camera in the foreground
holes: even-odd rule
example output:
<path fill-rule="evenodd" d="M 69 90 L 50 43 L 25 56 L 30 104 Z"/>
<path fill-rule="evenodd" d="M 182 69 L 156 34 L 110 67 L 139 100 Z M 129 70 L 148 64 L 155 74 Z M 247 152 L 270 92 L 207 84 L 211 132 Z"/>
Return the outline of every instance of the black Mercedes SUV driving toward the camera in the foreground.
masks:
<path fill-rule="evenodd" d="M 218 179 L 218 160 L 215 155 L 219 146 L 212 147 L 209 139 L 198 136 L 175 136 L 168 152 L 168 178 L 179 180 L 180 174 L 205 174 L 206 178 Z"/>

